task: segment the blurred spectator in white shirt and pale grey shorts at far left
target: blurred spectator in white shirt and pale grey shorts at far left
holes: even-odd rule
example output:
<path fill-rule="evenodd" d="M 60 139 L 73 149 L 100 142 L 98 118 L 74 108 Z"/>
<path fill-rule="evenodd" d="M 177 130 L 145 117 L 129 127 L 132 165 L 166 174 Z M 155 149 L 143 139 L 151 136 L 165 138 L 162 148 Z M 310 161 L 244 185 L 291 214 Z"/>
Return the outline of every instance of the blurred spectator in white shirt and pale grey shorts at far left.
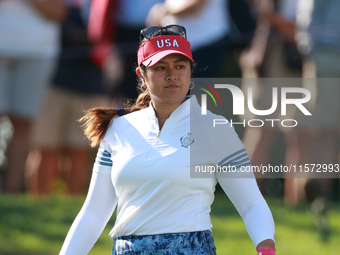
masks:
<path fill-rule="evenodd" d="M 62 0 L 0 1 L 0 116 L 14 136 L 7 149 L 4 191 L 23 187 L 28 137 L 59 50 Z"/>

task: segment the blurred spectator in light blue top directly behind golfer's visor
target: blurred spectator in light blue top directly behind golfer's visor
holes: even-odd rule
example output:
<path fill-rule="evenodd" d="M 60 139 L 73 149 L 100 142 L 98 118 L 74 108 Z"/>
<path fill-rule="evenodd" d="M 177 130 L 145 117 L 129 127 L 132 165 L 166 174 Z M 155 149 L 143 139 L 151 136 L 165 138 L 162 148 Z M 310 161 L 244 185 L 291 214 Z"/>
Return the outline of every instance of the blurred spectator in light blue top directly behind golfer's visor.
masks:
<path fill-rule="evenodd" d="M 152 7 L 147 26 L 179 24 L 186 28 L 193 58 L 193 76 L 223 77 L 230 47 L 231 20 L 226 0 L 166 0 Z M 202 65 L 204 63 L 204 66 Z"/>

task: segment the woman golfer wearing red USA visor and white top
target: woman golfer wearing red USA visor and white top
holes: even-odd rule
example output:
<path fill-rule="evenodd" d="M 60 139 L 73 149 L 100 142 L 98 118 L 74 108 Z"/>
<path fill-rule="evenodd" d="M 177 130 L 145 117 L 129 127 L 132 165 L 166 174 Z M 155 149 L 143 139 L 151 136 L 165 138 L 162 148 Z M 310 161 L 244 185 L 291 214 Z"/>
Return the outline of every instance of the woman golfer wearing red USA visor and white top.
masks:
<path fill-rule="evenodd" d="M 91 109 L 82 118 L 100 148 L 60 254 L 87 254 L 116 206 L 112 254 L 216 254 L 210 206 L 217 182 L 258 254 L 275 254 L 272 214 L 253 175 L 240 171 L 249 166 L 242 143 L 229 125 L 213 129 L 211 120 L 222 117 L 201 115 L 195 96 L 186 96 L 194 61 L 184 27 L 148 27 L 140 39 L 136 73 L 143 92 L 136 103 Z M 215 164 L 232 171 L 204 170 Z"/>

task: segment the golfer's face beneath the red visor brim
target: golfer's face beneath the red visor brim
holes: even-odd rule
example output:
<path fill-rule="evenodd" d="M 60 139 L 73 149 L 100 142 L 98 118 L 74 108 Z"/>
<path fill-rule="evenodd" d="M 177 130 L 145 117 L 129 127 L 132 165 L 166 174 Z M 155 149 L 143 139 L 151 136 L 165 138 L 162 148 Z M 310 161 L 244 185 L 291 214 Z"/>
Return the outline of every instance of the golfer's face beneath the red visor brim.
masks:
<path fill-rule="evenodd" d="M 190 60 L 180 54 L 170 54 L 146 68 L 143 78 L 155 105 L 180 105 L 189 90 Z"/>

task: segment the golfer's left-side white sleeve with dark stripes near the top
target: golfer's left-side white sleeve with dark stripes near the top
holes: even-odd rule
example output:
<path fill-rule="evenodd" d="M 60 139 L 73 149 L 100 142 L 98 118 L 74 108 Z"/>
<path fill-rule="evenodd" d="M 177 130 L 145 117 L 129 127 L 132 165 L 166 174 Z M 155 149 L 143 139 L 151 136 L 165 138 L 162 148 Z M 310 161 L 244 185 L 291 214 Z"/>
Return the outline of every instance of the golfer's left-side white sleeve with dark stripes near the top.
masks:
<path fill-rule="evenodd" d="M 104 230 L 117 204 L 111 181 L 110 153 L 99 149 L 89 191 L 74 220 L 59 255 L 86 255 Z"/>

